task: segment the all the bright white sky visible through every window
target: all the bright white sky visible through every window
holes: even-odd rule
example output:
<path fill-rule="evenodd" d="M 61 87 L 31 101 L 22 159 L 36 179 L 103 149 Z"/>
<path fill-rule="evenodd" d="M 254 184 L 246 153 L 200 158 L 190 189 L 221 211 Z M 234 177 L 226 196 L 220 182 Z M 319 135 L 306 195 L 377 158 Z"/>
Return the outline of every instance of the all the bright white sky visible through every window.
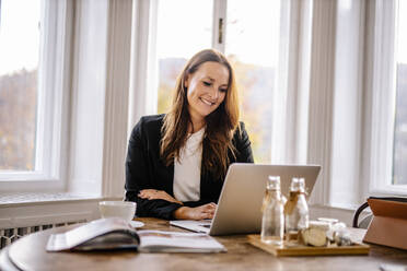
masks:
<path fill-rule="evenodd" d="M 37 67 L 40 2 L 1 0 L 0 75 Z M 275 67 L 278 60 L 279 1 L 230 0 L 228 4 L 226 55 L 236 55 L 246 63 Z M 407 0 L 399 0 L 399 14 L 407 14 Z M 407 16 L 400 15 L 398 20 L 397 60 L 407 63 Z M 159 58 L 189 58 L 198 50 L 211 47 L 211 32 L 212 1 L 159 1 Z"/>

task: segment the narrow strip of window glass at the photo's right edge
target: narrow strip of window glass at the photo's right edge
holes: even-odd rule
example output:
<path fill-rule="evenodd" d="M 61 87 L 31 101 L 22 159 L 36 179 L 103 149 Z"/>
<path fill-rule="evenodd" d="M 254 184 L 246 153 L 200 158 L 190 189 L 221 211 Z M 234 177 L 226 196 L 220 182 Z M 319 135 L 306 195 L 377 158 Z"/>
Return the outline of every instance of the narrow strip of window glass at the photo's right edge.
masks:
<path fill-rule="evenodd" d="M 407 1 L 396 12 L 396 114 L 393 148 L 393 185 L 407 185 Z"/>

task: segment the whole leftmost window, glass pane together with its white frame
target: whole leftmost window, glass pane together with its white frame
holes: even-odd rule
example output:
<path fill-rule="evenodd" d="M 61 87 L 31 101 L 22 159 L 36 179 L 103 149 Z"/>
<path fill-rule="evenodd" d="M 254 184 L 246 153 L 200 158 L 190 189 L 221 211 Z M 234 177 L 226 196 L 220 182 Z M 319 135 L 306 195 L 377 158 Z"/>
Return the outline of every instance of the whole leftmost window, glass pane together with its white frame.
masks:
<path fill-rule="evenodd" d="M 0 1 L 0 186 L 56 180 L 67 125 L 67 1 Z M 22 9 L 24 7 L 24 9 Z M 69 5 L 71 7 L 71 5 Z M 45 54 L 46 52 L 46 54 Z M 35 180 L 33 182 L 33 180 Z M 44 184 L 44 182 L 43 182 Z M 44 188 L 44 186 L 42 187 Z"/>

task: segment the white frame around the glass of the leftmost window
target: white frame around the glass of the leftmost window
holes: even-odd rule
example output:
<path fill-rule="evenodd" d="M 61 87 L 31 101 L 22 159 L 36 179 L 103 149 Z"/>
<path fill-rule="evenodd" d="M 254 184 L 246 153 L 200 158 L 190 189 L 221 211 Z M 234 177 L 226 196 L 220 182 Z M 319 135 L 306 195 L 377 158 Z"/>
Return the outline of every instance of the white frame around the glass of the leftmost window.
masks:
<path fill-rule="evenodd" d="M 1 172 L 4 192 L 60 191 L 66 182 L 73 3 L 42 0 L 40 24 L 35 169 Z"/>

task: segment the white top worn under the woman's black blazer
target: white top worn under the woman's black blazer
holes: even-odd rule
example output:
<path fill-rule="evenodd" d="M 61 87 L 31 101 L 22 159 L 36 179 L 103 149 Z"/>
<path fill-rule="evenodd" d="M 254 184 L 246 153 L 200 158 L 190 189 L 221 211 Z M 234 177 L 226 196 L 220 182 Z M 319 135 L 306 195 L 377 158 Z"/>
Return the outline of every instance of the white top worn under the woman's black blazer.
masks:
<path fill-rule="evenodd" d="M 200 199 L 200 163 L 202 161 L 202 138 L 205 128 L 189 134 L 181 150 L 179 161 L 174 160 L 174 196 L 179 201 Z"/>

